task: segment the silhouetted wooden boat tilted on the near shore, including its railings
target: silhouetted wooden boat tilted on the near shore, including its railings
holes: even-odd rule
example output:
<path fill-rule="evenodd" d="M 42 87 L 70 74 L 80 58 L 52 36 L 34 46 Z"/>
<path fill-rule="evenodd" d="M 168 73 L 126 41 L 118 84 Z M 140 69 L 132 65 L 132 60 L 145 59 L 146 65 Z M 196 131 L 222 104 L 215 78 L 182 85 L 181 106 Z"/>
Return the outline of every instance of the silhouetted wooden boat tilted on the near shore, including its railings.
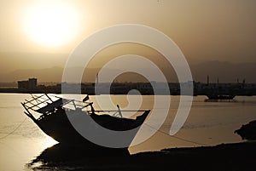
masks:
<path fill-rule="evenodd" d="M 127 140 L 131 143 L 137 134 L 138 129 L 143 124 L 146 117 L 148 117 L 150 110 L 143 111 L 142 115 L 135 119 L 131 119 L 122 117 L 119 105 L 118 110 L 116 111 L 105 111 L 109 113 L 114 112 L 114 115 L 100 114 L 103 111 L 96 111 L 93 107 L 93 102 L 87 102 L 88 100 L 88 95 L 83 101 L 79 101 L 64 99 L 53 94 L 42 94 L 39 96 L 32 95 L 32 100 L 25 100 L 21 105 L 26 109 L 26 116 L 30 117 L 45 134 L 60 142 L 61 145 L 81 146 L 92 153 L 95 153 L 96 151 L 109 151 L 111 153 L 113 153 L 113 151 L 118 153 L 127 152 L 127 147 L 119 149 L 108 148 L 103 147 L 102 145 L 96 145 L 90 140 L 86 140 L 75 128 L 73 128 L 73 125 L 70 123 L 67 116 L 77 117 L 79 119 L 84 119 L 84 116 L 89 116 L 92 118 L 90 122 L 96 122 L 102 127 L 114 131 L 134 129 L 135 131 L 132 132 L 134 134 L 127 137 Z M 81 121 L 79 123 L 83 124 L 84 122 Z M 88 124 L 88 122 L 86 123 Z"/>

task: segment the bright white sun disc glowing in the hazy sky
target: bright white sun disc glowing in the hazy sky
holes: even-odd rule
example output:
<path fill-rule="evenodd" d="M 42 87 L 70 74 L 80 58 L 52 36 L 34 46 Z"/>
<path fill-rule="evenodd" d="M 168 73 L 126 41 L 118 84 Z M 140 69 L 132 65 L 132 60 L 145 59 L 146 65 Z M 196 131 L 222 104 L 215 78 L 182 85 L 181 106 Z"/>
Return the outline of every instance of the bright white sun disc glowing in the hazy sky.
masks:
<path fill-rule="evenodd" d="M 55 47 L 68 43 L 76 35 L 78 27 L 78 14 L 67 3 L 40 1 L 26 9 L 26 34 L 44 46 Z"/>

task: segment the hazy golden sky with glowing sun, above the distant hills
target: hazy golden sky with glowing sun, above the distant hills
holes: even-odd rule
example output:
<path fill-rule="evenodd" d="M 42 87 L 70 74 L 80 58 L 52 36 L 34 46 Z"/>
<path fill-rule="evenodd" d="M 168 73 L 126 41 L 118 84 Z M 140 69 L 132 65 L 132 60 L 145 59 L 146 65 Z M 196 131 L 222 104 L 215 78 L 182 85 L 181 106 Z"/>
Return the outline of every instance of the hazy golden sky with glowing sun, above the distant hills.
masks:
<path fill-rule="evenodd" d="M 63 66 L 67 54 L 85 37 L 118 24 L 142 24 L 164 32 L 189 61 L 256 61 L 254 0 L 0 2 L 1 72 Z"/>

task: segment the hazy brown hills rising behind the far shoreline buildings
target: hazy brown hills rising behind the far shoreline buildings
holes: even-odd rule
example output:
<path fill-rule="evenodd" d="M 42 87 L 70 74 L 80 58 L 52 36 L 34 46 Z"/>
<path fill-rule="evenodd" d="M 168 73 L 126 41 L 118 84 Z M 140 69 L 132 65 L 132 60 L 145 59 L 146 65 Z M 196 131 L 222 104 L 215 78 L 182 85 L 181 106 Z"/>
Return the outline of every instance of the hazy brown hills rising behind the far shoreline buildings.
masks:
<path fill-rule="evenodd" d="M 208 61 L 196 65 L 190 65 L 193 79 L 196 82 L 207 82 L 207 75 L 210 77 L 210 82 L 216 83 L 217 79 L 220 83 L 234 83 L 237 79 L 241 82 L 246 79 L 247 83 L 256 83 L 256 62 L 255 63 L 230 63 L 221 61 Z M 150 72 L 150 69 L 147 69 Z M 83 82 L 94 82 L 98 68 L 86 69 L 86 76 Z M 109 69 L 108 71 L 116 71 Z M 168 68 L 163 68 L 168 81 L 174 82 L 176 75 L 174 71 Z M 19 80 L 26 80 L 29 77 L 37 77 L 40 83 L 60 83 L 63 68 L 51 67 L 45 69 L 29 69 L 16 70 L 7 74 L 0 75 L 0 83 L 11 83 Z M 154 74 L 154 73 L 152 73 Z M 174 78 L 174 79 L 172 79 Z M 119 82 L 138 82 L 143 77 L 138 77 L 136 74 L 125 74 L 124 77 L 118 79 Z M 145 79 L 143 79 L 145 80 Z"/>

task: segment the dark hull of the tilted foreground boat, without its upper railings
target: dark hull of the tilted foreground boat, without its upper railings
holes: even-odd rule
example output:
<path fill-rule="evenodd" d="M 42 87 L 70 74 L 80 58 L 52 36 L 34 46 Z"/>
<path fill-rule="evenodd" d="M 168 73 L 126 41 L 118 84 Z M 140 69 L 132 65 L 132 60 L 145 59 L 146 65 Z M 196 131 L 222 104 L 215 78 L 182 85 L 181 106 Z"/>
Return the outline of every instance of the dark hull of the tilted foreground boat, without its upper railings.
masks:
<path fill-rule="evenodd" d="M 73 115 L 76 111 L 64 111 L 63 109 L 57 110 L 54 113 L 51 113 L 47 116 L 42 116 L 35 121 L 39 128 L 41 128 L 45 134 L 52 137 L 54 140 L 61 143 L 61 145 L 68 146 L 76 146 L 81 148 L 88 149 L 88 152 L 96 153 L 96 151 L 105 151 L 120 153 L 127 153 L 128 147 L 125 148 L 108 148 L 102 145 L 96 145 L 90 140 L 85 139 L 76 128 L 73 127 L 73 124 L 70 123 L 67 115 Z M 128 143 L 131 144 L 131 141 L 134 139 L 137 134 L 138 129 L 148 116 L 149 111 L 144 111 L 143 115 L 137 117 L 136 119 L 128 119 L 128 118 L 119 118 L 112 117 L 109 115 L 92 115 L 90 116 L 93 120 L 92 122 L 96 122 L 100 124 L 104 128 L 112 129 L 114 131 L 125 131 L 133 128 L 137 128 L 134 132 L 135 134 L 131 134 L 131 137 L 128 137 Z M 76 113 L 77 114 L 77 113 Z M 78 114 L 77 114 L 78 115 Z M 79 115 L 88 115 L 85 112 L 80 112 Z M 80 116 L 81 117 L 81 116 Z M 83 117 L 81 117 L 83 118 Z M 83 123 L 83 122 L 81 122 Z"/>

